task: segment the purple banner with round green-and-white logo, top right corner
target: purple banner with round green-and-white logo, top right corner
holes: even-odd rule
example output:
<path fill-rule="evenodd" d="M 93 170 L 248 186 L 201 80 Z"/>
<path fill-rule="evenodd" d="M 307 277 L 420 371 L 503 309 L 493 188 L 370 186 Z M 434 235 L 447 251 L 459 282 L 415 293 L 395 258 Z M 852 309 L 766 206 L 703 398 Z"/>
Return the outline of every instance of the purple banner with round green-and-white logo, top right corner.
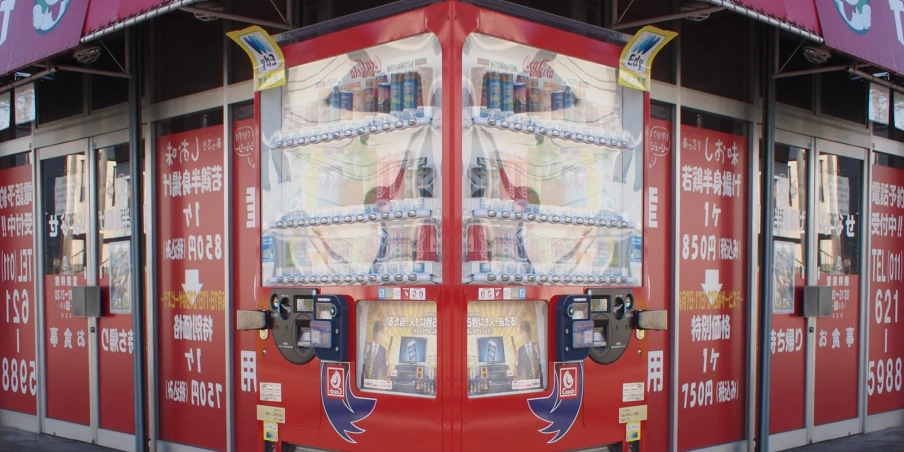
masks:
<path fill-rule="evenodd" d="M 861 1 L 851 5 L 848 1 L 820 0 L 816 3 L 826 45 L 904 73 L 904 2 Z"/>

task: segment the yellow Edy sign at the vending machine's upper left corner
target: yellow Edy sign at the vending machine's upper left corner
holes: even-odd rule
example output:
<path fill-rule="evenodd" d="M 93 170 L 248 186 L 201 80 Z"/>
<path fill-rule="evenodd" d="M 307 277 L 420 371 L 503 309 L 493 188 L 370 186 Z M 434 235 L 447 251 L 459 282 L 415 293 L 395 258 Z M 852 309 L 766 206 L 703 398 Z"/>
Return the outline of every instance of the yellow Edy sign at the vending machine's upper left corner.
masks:
<path fill-rule="evenodd" d="M 243 30 L 226 33 L 236 42 L 254 67 L 254 90 L 261 91 L 286 84 L 286 59 L 282 49 L 261 27 L 250 26 Z"/>

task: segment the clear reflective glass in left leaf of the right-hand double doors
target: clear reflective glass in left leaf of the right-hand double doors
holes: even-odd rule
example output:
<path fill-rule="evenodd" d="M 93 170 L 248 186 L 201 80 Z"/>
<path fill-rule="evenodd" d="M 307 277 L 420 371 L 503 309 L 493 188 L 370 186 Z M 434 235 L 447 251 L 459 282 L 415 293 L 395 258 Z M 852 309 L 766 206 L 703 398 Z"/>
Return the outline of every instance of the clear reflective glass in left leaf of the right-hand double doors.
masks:
<path fill-rule="evenodd" d="M 798 276 L 805 277 L 807 232 L 807 150 L 776 144 L 773 175 L 775 215 L 774 313 L 793 313 Z"/>

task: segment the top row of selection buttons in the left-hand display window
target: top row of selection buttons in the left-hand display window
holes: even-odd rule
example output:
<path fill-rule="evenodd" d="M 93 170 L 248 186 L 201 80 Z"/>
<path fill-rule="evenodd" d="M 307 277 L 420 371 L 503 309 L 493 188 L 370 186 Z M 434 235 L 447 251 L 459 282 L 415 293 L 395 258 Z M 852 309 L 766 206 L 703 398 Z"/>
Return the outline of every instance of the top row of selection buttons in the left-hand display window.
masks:
<path fill-rule="evenodd" d="M 363 120 L 345 121 L 334 127 L 304 128 L 298 130 L 281 130 L 270 140 L 272 149 L 290 149 L 346 140 L 354 137 L 386 134 L 400 130 L 419 129 L 433 123 L 432 110 L 417 115 L 381 115 Z"/>

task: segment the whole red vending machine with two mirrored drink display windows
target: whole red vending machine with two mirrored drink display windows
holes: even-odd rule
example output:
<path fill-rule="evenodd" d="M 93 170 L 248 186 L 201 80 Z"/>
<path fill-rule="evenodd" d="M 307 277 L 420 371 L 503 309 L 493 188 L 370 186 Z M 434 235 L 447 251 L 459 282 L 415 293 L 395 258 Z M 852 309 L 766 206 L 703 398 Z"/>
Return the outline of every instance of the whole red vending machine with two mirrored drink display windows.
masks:
<path fill-rule="evenodd" d="M 398 2 L 277 37 L 259 450 L 644 449 L 648 96 L 570 26 Z"/>

